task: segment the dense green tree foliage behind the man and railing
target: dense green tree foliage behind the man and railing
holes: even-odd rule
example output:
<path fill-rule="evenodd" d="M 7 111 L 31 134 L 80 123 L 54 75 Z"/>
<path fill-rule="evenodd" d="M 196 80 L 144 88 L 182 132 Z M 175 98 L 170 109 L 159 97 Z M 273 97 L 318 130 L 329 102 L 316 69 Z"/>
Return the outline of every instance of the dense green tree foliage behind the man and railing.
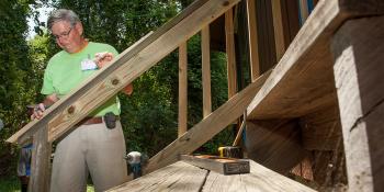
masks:
<path fill-rule="evenodd" d="M 174 16 L 191 1 L 176 0 L 58 0 L 49 1 L 55 8 L 67 8 L 77 12 L 83 22 L 86 37 L 103 42 L 123 52 L 142 36 L 155 31 Z M 39 89 L 47 60 L 59 48 L 55 41 L 37 29 L 39 35 L 26 43 L 26 16 L 36 18 L 33 8 L 46 5 L 48 1 L 7 2 L 1 9 L 0 20 L 0 118 L 7 128 L 1 131 L 0 163 L 11 165 L 15 148 L 2 140 L 21 127 L 27 120 L 25 105 L 42 101 Z M 11 10 L 11 11 L 10 11 Z M 45 21 L 35 21 L 39 26 Z M 159 47 L 161 48 L 161 47 Z M 200 35 L 189 39 L 188 45 L 188 126 L 202 120 L 202 71 Z M 178 128 L 178 50 L 134 81 L 131 97 L 121 94 L 122 123 L 128 150 L 155 155 L 176 139 Z M 211 54 L 211 79 L 213 110 L 227 100 L 226 61 L 223 53 Z M 225 131 L 205 144 L 199 151 L 215 153 L 221 145 L 231 143 L 234 134 Z M 13 161 L 14 162 L 14 161 Z M 13 172 L 11 166 L 5 166 Z"/>

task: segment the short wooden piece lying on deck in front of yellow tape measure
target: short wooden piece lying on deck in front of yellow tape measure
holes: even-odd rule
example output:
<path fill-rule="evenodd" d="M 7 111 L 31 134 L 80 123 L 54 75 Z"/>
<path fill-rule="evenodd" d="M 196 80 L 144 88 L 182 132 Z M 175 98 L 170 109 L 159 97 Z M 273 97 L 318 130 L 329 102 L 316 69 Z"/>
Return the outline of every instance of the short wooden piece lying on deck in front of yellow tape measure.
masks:
<path fill-rule="evenodd" d="M 247 159 L 234 159 L 218 156 L 189 156 L 181 155 L 180 160 L 221 174 L 249 173 L 249 161 Z"/>

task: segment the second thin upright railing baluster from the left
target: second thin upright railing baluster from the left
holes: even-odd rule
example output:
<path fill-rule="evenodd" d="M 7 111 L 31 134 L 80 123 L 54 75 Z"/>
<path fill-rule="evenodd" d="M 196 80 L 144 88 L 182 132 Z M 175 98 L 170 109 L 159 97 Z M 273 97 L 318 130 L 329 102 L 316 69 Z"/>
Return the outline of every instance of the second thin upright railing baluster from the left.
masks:
<path fill-rule="evenodd" d="M 203 83 L 203 117 L 212 112 L 211 101 L 211 49 L 210 49 L 210 25 L 203 27 L 202 32 L 202 83 Z"/>

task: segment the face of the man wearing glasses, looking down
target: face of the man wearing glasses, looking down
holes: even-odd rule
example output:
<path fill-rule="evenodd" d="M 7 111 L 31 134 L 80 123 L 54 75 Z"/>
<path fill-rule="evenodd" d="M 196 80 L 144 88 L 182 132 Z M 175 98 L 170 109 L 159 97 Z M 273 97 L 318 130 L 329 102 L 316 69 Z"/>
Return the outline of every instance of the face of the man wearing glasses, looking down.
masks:
<path fill-rule="evenodd" d="M 67 21 L 57 21 L 52 25 L 52 35 L 57 45 L 72 54 L 82 48 L 82 25 L 77 23 L 72 26 Z"/>

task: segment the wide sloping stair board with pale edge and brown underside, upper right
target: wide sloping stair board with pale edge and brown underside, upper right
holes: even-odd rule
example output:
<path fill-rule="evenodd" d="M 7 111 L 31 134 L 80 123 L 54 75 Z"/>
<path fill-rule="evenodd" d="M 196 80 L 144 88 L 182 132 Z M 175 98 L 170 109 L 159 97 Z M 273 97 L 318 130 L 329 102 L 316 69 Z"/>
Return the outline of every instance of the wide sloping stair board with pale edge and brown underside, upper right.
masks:
<path fill-rule="evenodd" d="M 319 1 L 248 108 L 252 118 L 297 117 L 335 104 L 329 39 L 343 21 L 384 13 L 382 1 Z"/>

